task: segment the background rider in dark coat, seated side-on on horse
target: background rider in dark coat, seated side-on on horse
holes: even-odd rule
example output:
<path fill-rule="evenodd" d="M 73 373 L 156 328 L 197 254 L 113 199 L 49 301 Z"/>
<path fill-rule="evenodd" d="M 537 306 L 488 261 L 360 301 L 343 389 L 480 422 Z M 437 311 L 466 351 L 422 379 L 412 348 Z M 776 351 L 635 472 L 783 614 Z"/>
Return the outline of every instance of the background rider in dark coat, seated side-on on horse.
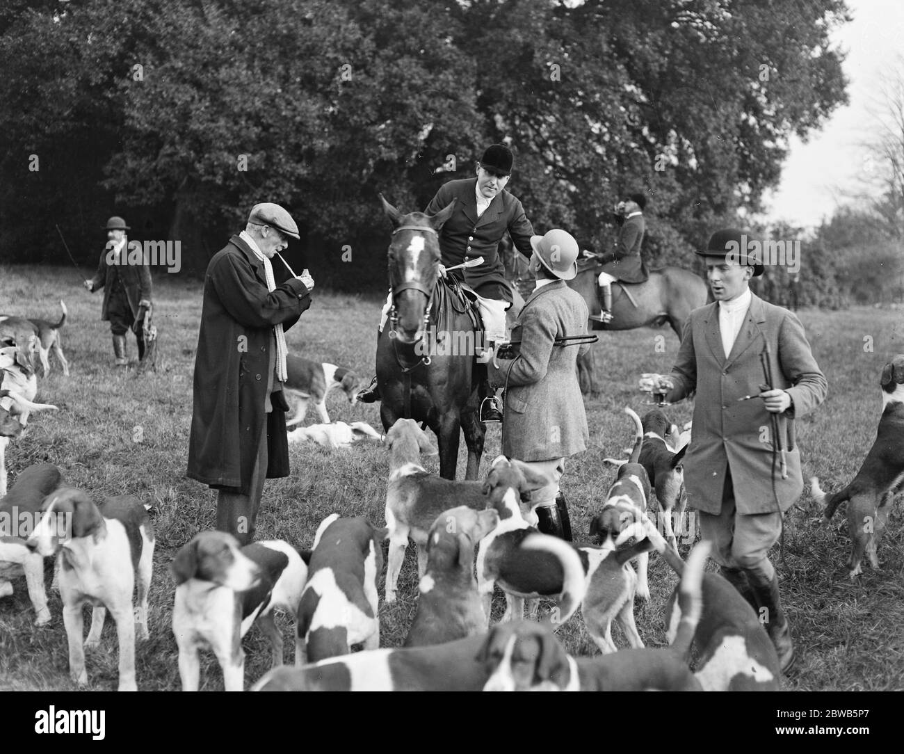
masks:
<path fill-rule="evenodd" d="M 650 277 L 640 256 L 640 246 L 646 231 L 643 214 L 645 207 L 646 196 L 643 193 L 632 193 L 623 202 L 619 202 L 616 213 L 625 221 L 618 231 L 615 250 L 604 254 L 585 252 L 585 256 L 595 256 L 602 264 L 597 292 L 602 311 L 589 317 L 596 322 L 607 323 L 612 319 L 612 283 L 644 283 Z"/>

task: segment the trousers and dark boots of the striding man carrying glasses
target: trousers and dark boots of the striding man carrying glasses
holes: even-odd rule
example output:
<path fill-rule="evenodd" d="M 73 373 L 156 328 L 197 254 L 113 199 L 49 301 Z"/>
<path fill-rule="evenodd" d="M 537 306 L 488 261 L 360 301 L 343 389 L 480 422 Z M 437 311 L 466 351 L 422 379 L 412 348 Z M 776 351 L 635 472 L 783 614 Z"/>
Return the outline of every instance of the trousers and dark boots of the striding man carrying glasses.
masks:
<path fill-rule="evenodd" d="M 778 593 L 776 570 L 767 557 L 781 534 L 781 514 L 741 515 L 735 507 L 730 471 L 717 515 L 700 513 L 703 540 L 712 542 L 711 557 L 721 574 L 758 611 L 758 617 L 776 646 L 783 671 L 794 662 L 794 646 Z"/>

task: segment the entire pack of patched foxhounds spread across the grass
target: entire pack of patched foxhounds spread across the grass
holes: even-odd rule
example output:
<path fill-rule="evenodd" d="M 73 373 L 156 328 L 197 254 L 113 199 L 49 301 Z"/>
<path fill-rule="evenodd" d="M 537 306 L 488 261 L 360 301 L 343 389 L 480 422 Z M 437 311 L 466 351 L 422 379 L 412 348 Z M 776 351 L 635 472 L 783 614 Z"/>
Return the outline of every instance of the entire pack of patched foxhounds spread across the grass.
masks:
<path fill-rule="evenodd" d="M 88 683 L 86 650 L 99 646 L 109 612 L 118 636 L 118 689 L 140 688 L 136 644 L 149 637 L 148 596 L 156 577 L 174 588 L 172 632 L 184 691 L 202 685 L 202 650 L 215 655 L 227 691 L 781 689 L 777 655 L 758 614 L 727 580 L 706 570 L 709 545 L 698 542 L 686 561 L 679 554 L 675 525 L 681 526 L 686 504 L 682 463 L 692 427 L 679 432 L 661 410 L 641 419 L 626 408 L 634 445 L 625 460 L 607 459 L 617 476 L 591 517 L 588 542 L 576 544 L 536 528 L 532 491 L 549 480 L 532 467 L 500 456 L 483 481 L 430 473 L 422 459 L 437 450 L 415 421 L 399 419 L 385 436 L 363 422 L 330 422 L 326 393 L 342 390 L 353 401 L 360 380 L 332 363 L 293 356 L 287 391 L 297 410 L 290 423 L 301 424 L 312 400 L 323 423 L 293 429 L 290 441 L 331 451 L 381 442 L 389 458 L 384 525 L 337 512 L 319 524 L 312 542 L 244 547 L 231 534 L 200 532 L 161 574 L 154 572 L 153 510 L 137 497 L 98 499 L 68 485 L 64 470 L 51 463 L 24 468 L 6 489 L 6 443 L 22 434 L 32 413 L 56 410 L 36 402 L 36 364 L 46 375 L 52 350 L 69 373 L 60 342 L 65 319 L 65 305 L 56 324 L 0 316 L 0 598 L 24 577 L 34 630 L 58 620 L 45 589 L 45 559 L 52 559 L 74 683 Z M 827 495 L 818 479 L 811 481 L 825 522 L 847 504 L 852 578 L 864 558 L 879 567 L 890 504 L 904 488 L 904 355 L 885 365 L 880 389 L 877 437 L 852 482 Z M 23 533 L 17 527 L 26 520 L 33 526 Z M 400 599 L 410 541 L 417 550 L 417 604 L 402 645 L 381 647 L 383 567 L 388 605 Z M 644 645 L 634 617 L 635 600 L 650 598 L 650 557 L 663 559 L 675 580 L 663 616 L 667 644 L 659 648 Z M 496 588 L 505 610 L 494 623 Z M 0 601 L 0 611 L 7 605 Z M 86 605 L 92 608 L 87 638 Z M 291 665 L 277 612 L 294 625 Z M 583 621 L 599 654 L 565 650 L 557 630 L 575 620 Z M 613 622 L 628 648 L 616 646 Z M 242 638 L 252 624 L 268 638 L 272 668 L 248 679 Z"/>

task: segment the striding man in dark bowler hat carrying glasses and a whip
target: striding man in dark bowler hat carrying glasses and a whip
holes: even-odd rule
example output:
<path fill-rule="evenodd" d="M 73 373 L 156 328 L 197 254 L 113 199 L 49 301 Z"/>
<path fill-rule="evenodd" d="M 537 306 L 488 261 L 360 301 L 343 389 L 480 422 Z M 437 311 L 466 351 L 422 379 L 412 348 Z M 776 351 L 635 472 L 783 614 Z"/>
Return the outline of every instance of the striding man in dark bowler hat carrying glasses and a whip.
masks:
<path fill-rule="evenodd" d="M 696 252 L 706 259 L 716 300 L 691 313 L 672 374 L 642 379 L 641 389 L 665 392 L 669 402 L 696 391 L 684 457 L 688 504 L 700 512 L 702 538 L 712 542 L 721 574 L 764 621 L 784 672 L 794 662 L 794 646 L 767 553 L 781 533 L 783 512 L 804 489 L 794 420 L 824 401 L 828 385 L 800 320 L 750 291 L 750 278 L 764 268 L 748 239 L 733 228 L 717 231 Z M 761 389 L 764 383 L 771 389 Z M 756 397 L 745 400 L 749 395 Z M 776 416 L 786 478 L 773 445 L 770 418 Z"/>

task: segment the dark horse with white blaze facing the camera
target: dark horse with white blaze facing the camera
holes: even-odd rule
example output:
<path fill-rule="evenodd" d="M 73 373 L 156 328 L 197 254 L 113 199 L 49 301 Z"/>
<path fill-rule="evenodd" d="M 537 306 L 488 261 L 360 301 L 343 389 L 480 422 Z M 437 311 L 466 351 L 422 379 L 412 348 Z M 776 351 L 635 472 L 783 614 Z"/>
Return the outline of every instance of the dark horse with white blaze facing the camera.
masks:
<path fill-rule="evenodd" d="M 426 424 L 437 436 L 439 474 L 447 479 L 456 476 L 464 431 L 465 478 L 476 479 L 484 453 L 478 409 L 485 369 L 474 363 L 476 331 L 467 307 L 457 301 L 455 284 L 438 277 L 438 231 L 455 203 L 435 215 L 403 215 L 380 199 L 394 228 L 388 254 L 392 309 L 377 343 L 383 429 L 397 419 Z"/>

